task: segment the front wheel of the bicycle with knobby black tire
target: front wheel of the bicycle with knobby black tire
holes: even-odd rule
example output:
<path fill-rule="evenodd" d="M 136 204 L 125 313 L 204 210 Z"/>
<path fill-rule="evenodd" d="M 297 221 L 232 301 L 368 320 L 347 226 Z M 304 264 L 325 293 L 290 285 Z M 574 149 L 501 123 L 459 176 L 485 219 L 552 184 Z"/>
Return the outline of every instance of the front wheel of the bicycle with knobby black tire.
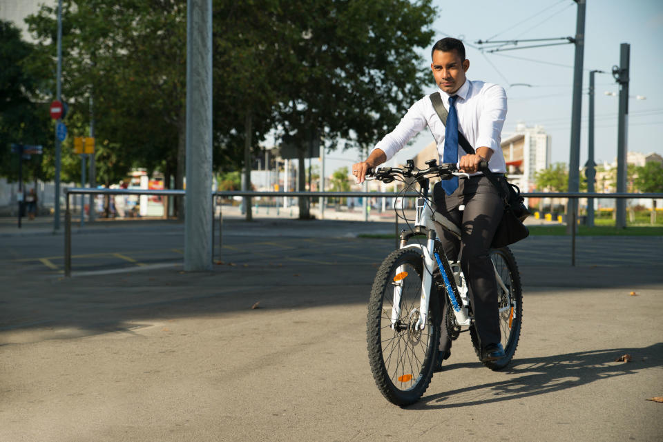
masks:
<path fill-rule="evenodd" d="M 395 250 L 378 269 L 368 304 L 367 343 L 371 370 L 388 401 L 410 405 L 430 384 L 440 339 L 439 299 L 435 293 L 423 329 L 423 257 L 413 249 Z"/>

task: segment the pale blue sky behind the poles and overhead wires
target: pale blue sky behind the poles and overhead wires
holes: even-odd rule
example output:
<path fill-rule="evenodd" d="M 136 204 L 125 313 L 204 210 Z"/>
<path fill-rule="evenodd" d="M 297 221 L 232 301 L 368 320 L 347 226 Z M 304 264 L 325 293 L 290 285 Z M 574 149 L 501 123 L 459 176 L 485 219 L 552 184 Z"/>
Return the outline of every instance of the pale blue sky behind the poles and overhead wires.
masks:
<path fill-rule="evenodd" d="M 519 121 L 541 125 L 552 137 L 552 161 L 569 163 L 571 99 L 575 46 L 519 49 L 489 54 L 481 52 L 479 39 L 541 39 L 574 37 L 577 5 L 572 0 L 441 1 L 435 0 L 435 40 L 456 37 L 465 42 L 470 60 L 468 78 L 498 83 L 506 89 L 508 113 L 502 138 Z M 619 45 L 631 45 L 629 94 L 629 151 L 663 155 L 663 1 L 587 0 L 580 165 L 587 161 L 588 85 L 590 70 L 611 72 L 619 65 Z M 528 43 L 536 44 L 536 43 Z M 520 43 L 526 46 L 526 43 Z M 517 58 L 515 58 L 517 57 Z M 430 66 L 430 49 L 425 50 Z M 436 90 L 431 75 L 430 87 Z M 510 86 L 525 83 L 529 86 Z M 617 157 L 619 92 L 611 73 L 595 74 L 595 162 L 612 163 Z M 646 97 L 637 100 L 635 96 Z M 412 103 L 421 97 L 412 97 Z M 412 145 L 396 156 L 404 162 L 432 141 L 424 130 Z M 332 152 L 325 172 L 352 165 L 358 152 Z M 331 159 L 334 158 L 334 159 Z M 327 172 L 328 173 L 328 172 Z"/>

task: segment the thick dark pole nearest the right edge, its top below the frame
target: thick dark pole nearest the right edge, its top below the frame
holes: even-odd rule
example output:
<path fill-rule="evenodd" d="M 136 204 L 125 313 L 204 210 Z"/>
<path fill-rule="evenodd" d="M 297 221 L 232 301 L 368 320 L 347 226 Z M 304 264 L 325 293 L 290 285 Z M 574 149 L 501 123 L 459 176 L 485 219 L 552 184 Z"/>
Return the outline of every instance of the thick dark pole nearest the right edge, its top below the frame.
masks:
<path fill-rule="evenodd" d="M 631 45 L 619 46 L 619 67 L 613 66 L 613 77 L 619 83 L 619 117 L 617 128 L 617 193 L 626 192 L 626 152 L 628 130 L 628 81 Z M 617 199 L 615 203 L 615 227 L 626 228 L 626 200 Z"/>

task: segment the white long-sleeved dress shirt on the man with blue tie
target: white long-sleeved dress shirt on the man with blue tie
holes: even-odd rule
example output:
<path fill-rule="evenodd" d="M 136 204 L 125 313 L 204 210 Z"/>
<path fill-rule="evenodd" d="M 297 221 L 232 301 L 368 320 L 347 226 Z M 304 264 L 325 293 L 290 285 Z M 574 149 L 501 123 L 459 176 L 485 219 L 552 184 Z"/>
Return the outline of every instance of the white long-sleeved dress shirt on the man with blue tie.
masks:
<path fill-rule="evenodd" d="M 439 90 L 439 94 L 444 107 L 449 110 L 450 95 L 443 90 Z M 502 126 L 506 118 L 506 92 L 497 84 L 465 79 L 465 83 L 455 95 L 458 95 L 456 110 L 459 130 L 474 150 L 481 147 L 492 150 L 493 154 L 488 162 L 492 172 L 506 172 L 506 163 L 500 145 Z M 441 163 L 444 157 L 445 126 L 428 96 L 414 103 L 396 128 L 377 143 L 373 150 L 381 149 L 387 155 L 387 160 L 391 159 L 407 144 L 407 141 L 426 126 L 430 128 L 437 143 L 438 162 Z M 458 159 L 460 160 L 465 154 L 467 152 L 459 145 Z"/>

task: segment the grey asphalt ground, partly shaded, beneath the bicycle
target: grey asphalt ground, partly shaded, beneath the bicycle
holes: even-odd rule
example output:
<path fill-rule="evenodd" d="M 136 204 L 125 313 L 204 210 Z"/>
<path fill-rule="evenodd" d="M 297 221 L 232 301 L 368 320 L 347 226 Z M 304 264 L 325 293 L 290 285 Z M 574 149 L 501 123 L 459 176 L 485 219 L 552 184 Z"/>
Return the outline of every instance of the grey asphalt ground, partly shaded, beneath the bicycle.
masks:
<path fill-rule="evenodd" d="M 580 237 L 575 267 L 567 237 L 521 241 L 512 365 L 461 335 L 398 408 L 365 343 L 394 243 L 357 237 L 392 223 L 229 219 L 211 272 L 182 272 L 182 230 L 75 230 L 64 279 L 61 234 L 0 225 L 0 441 L 661 440 L 662 237 Z"/>

